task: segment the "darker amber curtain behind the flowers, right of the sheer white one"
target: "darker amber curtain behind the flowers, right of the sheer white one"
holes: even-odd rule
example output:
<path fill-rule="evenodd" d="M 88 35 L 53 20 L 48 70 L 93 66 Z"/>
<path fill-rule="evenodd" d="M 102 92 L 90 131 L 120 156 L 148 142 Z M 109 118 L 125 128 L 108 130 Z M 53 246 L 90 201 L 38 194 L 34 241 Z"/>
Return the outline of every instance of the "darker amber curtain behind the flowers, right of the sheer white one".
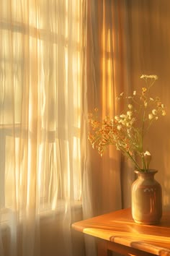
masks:
<path fill-rule="evenodd" d="M 120 111 L 115 99 L 130 80 L 126 1 L 89 1 L 88 17 L 88 111 L 98 108 L 99 119 L 104 119 Z M 89 150 L 94 214 L 122 208 L 120 152 L 109 147 L 101 158 L 97 150 Z"/>

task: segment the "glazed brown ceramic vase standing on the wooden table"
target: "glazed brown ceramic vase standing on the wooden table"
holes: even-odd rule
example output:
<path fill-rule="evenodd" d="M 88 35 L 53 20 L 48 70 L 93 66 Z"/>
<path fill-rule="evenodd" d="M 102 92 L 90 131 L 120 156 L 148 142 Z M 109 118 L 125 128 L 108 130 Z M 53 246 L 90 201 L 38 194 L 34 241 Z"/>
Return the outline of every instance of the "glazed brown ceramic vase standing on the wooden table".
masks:
<path fill-rule="evenodd" d="M 156 182 L 156 170 L 135 171 L 138 179 L 132 184 L 132 216 L 136 223 L 156 224 L 162 216 L 162 190 Z"/>

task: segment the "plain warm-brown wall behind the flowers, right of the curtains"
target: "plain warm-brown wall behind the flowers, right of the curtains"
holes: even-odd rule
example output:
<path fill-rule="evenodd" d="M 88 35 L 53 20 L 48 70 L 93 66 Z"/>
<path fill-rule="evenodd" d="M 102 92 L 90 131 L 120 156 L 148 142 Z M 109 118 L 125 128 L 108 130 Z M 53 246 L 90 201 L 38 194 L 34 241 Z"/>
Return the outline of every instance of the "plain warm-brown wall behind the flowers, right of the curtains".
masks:
<path fill-rule="evenodd" d="M 130 40 L 130 77 L 133 88 L 143 86 L 141 74 L 157 74 L 153 95 L 166 106 L 166 117 L 151 127 L 148 148 L 161 183 L 164 208 L 170 209 L 170 1 L 130 0 L 128 3 L 128 32 Z"/>

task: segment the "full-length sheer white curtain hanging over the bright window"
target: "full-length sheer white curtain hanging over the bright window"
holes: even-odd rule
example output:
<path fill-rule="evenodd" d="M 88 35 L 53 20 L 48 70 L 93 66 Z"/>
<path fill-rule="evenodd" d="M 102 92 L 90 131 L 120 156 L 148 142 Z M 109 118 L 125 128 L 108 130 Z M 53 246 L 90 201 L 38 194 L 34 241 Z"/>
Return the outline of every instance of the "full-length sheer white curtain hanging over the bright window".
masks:
<path fill-rule="evenodd" d="M 84 0 L 0 2 L 1 256 L 72 255 L 85 20 Z"/>

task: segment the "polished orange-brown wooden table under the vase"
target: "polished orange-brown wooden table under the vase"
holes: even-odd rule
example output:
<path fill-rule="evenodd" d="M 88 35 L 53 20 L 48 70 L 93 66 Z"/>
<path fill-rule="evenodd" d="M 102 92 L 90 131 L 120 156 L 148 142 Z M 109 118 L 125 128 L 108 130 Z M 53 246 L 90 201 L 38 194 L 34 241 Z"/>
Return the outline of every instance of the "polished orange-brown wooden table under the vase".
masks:
<path fill-rule="evenodd" d="M 170 212 L 164 212 L 161 223 L 155 226 L 135 223 L 131 210 L 124 209 L 73 223 L 72 228 L 99 239 L 99 256 L 110 255 L 110 251 L 170 256 Z"/>

